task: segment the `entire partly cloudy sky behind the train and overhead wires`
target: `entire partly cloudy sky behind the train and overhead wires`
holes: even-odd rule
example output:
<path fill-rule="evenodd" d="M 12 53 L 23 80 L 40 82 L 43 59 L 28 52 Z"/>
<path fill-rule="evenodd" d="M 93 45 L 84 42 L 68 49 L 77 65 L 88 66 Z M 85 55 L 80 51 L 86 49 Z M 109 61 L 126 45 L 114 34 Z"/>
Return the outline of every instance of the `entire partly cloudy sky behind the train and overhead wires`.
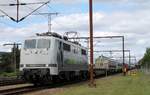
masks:
<path fill-rule="evenodd" d="M 6 0 L 0 4 L 7 4 Z M 28 0 L 21 0 L 29 2 Z M 39 2 L 41 0 L 33 0 Z M 46 1 L 46 0 L 42 0 Z M 15 2 L 14 2 L 15 3 Z M 150 2 L 147 0 L 94 0 L 94 36 L 124 35 L 126 49 L 140 59 L 149 44 L 150 30 Z M 52 30 L 64 34 L 66 31 L 77 31 L 80 36 L 88 36 L 88 0 L 52 0 L 49 7 L 44 6 L 38 12 L 58 12 L 53 16 Z M 31 7 L 31 6 L 27 6 Z M 32 6 L 31 8 L 36 8 Z M 15 16 L 16 8 L 0 9 Z M 31 12 L 22 7 L 21 14 Z M 2 13 L 1 13 L 2 14 Z M 0 18 L 0 50 L 8 51 L 11 47 L 3 47 L 3 43 L 23 42 L 23 40 L 37 32 L 47 32 L 47 16 L 30 16 L 24 21 L 16 23 L 9 18 Z M 120 49 L 118 41 L 102 41 L 102 49 Z M 100 44 L 100 46 L 101 46 Z M 111 47 L 111 48 L 110 48 Z M 118 47 L 118 48 L 116 48 Z"/>

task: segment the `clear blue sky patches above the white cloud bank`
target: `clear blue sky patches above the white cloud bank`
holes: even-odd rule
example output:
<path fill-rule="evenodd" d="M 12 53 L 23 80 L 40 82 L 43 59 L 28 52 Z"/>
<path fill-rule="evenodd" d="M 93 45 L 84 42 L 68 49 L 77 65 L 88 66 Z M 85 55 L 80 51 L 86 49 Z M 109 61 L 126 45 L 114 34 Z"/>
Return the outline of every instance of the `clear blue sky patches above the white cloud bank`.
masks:
<path fill-rule="evenodd" d="M 38 14 L 38 12 L 43 12 L 43 9 L 48 9 L 49 12 L 58 12 L 59 15 L 68 15 L 68 14 L 73 14 L 73 13 L 87 13 L 88 12 L 88 2 L 86 2 L 85 0 L 78 2 L 78 3 L 75 2 L 73 4 L 72 3 L 71 4 L 70 3 L 65 3 L 65 4 L 64 3 L 55 3 L 55 0 L 52 0 L 52 2 L 49 3 L 48 5 L 50 6 L 50 8 L 44 6 L 44 8 L 39 9 L 35 13 Z M 2 8 L 5 8 L 5 7 L 2 7 Z M 136 10 L 137 10 L 137 8 L 135 5 L 128 4 L 128 3 L 127 4 L 117 4 L 117 3 L 106 3 L 106 2 L 100 2 L 100 3 L 94 2 L 94 12 L 103 12 L 106 14 L 111 14 L 113 12 L 119 12 L 119 11 L 120 12 L 121 11 L 133 12 Z M 15 11 L 16 10 L 14 8 L 14 12 Z M 44 10 L 44 12 L 48 12 L 48 11 Z M 29 20 L 31 18 L 32 18 L 32 21 Z M 1 20 L 2 24 L 8 25 L 10 27 L 24 27 L 30 23 L 46 22 L 47 18 L 44 16 L 36 16 L 33 18 L 31 15 L 20 23 L 15 23 L 14 21 L 12 21 L 6 17 L 0 18 L 0 20 Z"/>

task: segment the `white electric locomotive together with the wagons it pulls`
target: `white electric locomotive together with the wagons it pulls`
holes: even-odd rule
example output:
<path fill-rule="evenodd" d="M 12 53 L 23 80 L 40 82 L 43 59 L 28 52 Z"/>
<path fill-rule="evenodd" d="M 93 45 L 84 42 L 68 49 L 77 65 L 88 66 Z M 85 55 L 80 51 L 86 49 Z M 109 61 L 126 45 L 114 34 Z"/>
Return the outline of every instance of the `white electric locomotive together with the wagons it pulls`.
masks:
<path fill-rule="evenodd" d="M 108 61 L 107 63 L 110 63 Z M 115 61 L 108 66 L 97 63 L 94 74 L 119 71 Z M 30 83 L 55 82 L 59 80 L 87 79 L 89 77 L 88 48 L 66 36 L 46 32 L 26 38 L 20 54 L 21 78 Z"/>

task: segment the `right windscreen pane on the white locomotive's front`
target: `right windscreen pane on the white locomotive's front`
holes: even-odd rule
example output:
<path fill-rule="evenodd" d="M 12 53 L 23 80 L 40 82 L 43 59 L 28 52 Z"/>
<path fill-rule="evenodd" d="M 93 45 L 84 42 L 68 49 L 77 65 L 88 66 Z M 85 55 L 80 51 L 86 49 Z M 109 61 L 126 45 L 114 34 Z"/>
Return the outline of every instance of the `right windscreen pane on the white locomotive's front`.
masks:
<path fill-rule="evenodd" d="M 50 40 L 39 39 L 37 43 L 37 48 L 50 48 Z"/>

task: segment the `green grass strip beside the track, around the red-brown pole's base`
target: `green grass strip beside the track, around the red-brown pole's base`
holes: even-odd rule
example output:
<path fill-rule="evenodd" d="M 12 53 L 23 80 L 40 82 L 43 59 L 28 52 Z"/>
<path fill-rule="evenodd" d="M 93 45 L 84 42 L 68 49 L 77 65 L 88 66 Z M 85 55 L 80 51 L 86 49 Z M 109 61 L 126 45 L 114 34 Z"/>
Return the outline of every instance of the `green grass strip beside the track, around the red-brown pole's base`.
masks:
<path fill-rule="evenodd" d="M 88 87 L 88 82 L 73 84 L 55 95 L 150 95 L 150 76 L 142 73 L 101 78 L 96 84 L 96 88 Z"/>

